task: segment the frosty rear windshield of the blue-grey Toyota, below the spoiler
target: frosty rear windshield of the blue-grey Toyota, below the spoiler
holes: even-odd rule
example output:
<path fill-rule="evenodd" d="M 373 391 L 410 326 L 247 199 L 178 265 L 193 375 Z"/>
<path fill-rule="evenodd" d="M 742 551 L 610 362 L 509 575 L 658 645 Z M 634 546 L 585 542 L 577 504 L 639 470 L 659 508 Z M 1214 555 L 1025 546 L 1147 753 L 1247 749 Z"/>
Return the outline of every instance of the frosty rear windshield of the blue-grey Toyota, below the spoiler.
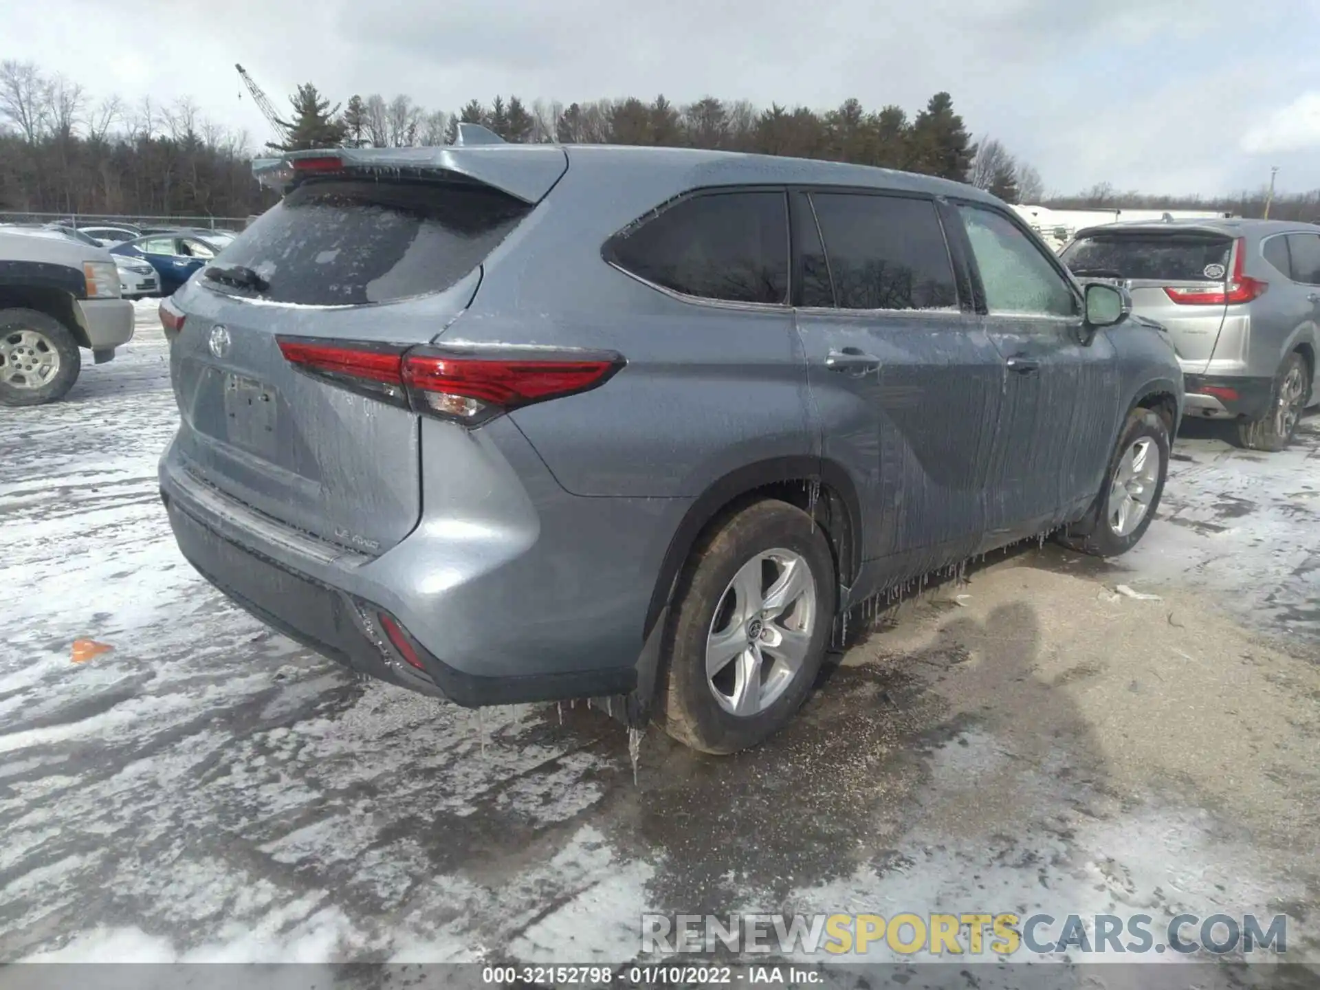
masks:
<path fill-rule="evenodd" d="M 484 186 L 322 180 L 253 220 L 219 264 L 251 268 L 269 282 L 259 294 L 276 302 L 391 302 L 454 285 L 531 209 Z"/>

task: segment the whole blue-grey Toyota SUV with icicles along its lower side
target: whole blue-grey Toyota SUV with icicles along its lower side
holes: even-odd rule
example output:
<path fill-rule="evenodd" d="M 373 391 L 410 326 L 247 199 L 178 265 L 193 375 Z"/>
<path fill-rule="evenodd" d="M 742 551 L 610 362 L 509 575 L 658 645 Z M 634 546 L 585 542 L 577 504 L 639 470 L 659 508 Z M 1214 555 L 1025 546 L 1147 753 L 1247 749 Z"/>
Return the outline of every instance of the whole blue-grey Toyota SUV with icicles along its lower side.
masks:
<path fill-rule="evenodd" d="M 359 671 L 731 752 L 847 609 L 1060 528 L 1122 553 L 1159 502 L 1166 335 L 969 186 L 470 144 L 265 177 L 161 306 L 161 492 L 202 574 Z"/>

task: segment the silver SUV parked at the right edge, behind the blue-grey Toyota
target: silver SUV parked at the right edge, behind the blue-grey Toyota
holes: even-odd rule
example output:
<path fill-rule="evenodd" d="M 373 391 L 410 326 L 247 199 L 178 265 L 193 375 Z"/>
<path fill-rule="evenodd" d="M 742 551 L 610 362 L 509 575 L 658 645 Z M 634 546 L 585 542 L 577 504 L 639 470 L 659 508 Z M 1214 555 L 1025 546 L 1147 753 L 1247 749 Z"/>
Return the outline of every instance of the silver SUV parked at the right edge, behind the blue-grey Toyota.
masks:
<path fill-rule="evenodd" d="M 1172 220 L 1081 230 L 1063 252 L 1078 277 L 1121 280 L 1162 323 L 1189 416 L 1236 420 L 1257 450 L 1288 445 L 1320 401 L 1320 227 Z"/>

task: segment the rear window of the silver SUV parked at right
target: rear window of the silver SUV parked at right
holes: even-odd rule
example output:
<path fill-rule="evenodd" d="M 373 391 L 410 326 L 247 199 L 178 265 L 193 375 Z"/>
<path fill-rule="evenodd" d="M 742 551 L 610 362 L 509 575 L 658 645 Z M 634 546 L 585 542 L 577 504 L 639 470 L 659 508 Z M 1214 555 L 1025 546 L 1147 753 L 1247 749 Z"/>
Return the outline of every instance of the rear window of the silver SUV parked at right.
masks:
<path fill-rule="evenodd" d="M 1222 281 L 1232 248 L 1229 238 L 1096 234 L 1071 244 L 1063 263 L 1084 277 Z"/>

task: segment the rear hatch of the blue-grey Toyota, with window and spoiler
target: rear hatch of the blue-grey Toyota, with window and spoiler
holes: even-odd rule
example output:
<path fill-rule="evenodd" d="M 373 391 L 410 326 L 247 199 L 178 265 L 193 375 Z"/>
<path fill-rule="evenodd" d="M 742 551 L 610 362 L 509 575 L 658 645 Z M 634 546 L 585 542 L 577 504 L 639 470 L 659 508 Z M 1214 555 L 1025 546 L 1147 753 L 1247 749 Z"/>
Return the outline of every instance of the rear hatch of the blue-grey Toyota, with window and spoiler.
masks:
<path fill-rule="evenodd" d="M 294 157 L 315 174 L 162 308 L 182 321 L 170 364 L 190 474 L 359 552 L 421 515 L 418 416 L 391 384 L 401 351 L 463 312 L 483 260 L 566 168 L 550 148 L 428 150 L 442 168 Z"/>

